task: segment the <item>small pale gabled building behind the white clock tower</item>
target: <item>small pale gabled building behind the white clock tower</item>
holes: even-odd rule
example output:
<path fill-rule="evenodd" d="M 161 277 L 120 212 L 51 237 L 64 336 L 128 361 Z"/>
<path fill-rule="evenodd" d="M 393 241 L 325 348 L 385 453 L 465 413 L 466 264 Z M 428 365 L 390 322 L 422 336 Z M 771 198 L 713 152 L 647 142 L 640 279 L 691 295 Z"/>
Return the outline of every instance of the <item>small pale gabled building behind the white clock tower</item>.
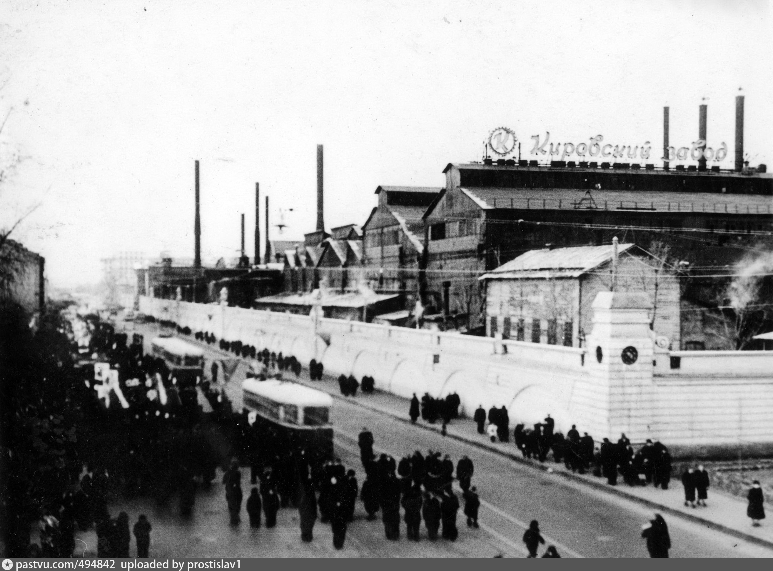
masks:
<path fill-rule="evenodd" d="M 485 282 L 486 335 L 583 347 L 598 292 L 645 292 L 657 337 L 679 349 L 679 280 L 635 244 L 530 250 L 479 279 Z"/>

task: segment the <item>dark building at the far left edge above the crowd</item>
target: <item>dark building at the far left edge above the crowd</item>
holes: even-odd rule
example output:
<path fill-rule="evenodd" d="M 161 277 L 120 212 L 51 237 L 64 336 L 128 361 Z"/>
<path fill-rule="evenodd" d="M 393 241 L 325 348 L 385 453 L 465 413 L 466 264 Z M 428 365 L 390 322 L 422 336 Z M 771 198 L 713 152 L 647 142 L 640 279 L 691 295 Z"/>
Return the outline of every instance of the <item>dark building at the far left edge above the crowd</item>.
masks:
<path fill-rule="evenodd" d="M 0 245 L 0 303 L 18 303 L 30 317 L 46 309 L 46 258 L 6 239 Z"/>

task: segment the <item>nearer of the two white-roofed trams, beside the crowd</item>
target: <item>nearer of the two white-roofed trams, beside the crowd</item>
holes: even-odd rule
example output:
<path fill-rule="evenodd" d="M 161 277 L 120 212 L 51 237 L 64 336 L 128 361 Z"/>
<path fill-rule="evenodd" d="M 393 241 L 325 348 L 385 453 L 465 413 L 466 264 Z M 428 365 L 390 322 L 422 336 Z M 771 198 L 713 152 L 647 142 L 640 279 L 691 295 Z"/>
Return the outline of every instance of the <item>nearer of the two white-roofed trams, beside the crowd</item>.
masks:
<path fill-rule="evenodd" d="M 242 383 L 242 400 L 255 413 L 261 433 L 271 429 L 278 446 L 305 450 L 310 460 L 332 458 L 333 399 L 327 393 L 293 382 L 248 378 Z"/>

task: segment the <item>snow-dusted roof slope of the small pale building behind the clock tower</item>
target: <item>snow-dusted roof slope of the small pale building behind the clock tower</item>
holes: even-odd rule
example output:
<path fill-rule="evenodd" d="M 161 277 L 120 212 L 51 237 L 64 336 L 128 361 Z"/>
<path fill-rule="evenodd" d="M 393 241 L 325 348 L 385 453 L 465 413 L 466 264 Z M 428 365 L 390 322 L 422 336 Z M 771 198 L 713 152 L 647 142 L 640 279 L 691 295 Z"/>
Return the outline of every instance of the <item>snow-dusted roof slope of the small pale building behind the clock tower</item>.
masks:
<path fill-rule="evenodd" d="M 618 253 L 635 244 L 618 244 Z M 612 245 L 530 250 L 478 279 L 577 278 L 612 259 Z"/>

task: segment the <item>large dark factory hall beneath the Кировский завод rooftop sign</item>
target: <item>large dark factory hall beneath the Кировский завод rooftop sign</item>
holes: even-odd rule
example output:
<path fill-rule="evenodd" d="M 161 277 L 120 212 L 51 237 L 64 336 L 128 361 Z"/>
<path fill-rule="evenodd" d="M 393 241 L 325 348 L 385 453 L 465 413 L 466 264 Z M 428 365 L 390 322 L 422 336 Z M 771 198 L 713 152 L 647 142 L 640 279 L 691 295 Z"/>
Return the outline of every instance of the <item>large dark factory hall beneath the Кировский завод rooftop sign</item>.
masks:
<path fill-rule="evenodd" d="M 773 231 L 773 176 L 765 171 L 512 159 L 449 164 L 445 187 L 424 214 L 427 293 L 442 297 L 444 313 L 470 313 L 471 327 L 482 326 L 480 273 L 545 244 L 608 244 L 614 236 L 647 249 L 666 244 L 670 257 L 710 275 Z"/>

